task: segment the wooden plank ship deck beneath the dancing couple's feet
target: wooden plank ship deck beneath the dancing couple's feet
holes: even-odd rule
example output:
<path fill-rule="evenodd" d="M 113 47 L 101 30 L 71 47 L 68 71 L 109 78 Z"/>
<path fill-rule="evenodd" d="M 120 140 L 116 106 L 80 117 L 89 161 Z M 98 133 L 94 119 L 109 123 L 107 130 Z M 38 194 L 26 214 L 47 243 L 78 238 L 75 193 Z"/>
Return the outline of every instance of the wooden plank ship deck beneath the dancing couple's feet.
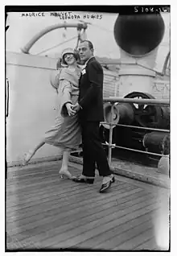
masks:
<path fill-rule="evenodd" d="M 100 194 L 101 177 L 76 184 L 60 179 L 60 165 L 8 168 L 6 250 L 168 250 L 169 189 L 116 175 Z"/>

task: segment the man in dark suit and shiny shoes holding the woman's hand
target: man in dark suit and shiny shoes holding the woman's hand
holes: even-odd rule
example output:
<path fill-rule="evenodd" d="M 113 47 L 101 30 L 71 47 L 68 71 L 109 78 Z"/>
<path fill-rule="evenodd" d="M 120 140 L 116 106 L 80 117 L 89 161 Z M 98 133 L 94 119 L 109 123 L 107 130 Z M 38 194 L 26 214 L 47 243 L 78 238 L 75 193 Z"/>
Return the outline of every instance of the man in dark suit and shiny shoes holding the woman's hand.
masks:
<path fill-rule="evenodd" d="M 80 60 L 85 68 L 80 76 L 80 95 L 74 110 L 78 112 L 82 130 L 83 171 L 74 179 L 76 182 L 93 184 L 95 168 L 103 176 L 100 192 L 107 191 L 115 181 L 101 145 L 99 136 L 100 122 L 103 114 L 103 69 L 93 56 L 93 43 L 84 40 L 79 47 Z"/>

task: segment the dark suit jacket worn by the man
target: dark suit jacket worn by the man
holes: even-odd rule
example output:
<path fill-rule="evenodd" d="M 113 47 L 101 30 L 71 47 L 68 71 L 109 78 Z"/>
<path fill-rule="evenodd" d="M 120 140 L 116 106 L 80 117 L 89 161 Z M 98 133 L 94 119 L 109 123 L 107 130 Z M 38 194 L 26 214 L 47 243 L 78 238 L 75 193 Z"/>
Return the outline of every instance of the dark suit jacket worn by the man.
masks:
<path fill-rule="evenodd" d="M 79 87 L 80 121 L 104 121 L 103 69 L 94 57 L 88 60 L 85 72 L 80 76 Z"/>

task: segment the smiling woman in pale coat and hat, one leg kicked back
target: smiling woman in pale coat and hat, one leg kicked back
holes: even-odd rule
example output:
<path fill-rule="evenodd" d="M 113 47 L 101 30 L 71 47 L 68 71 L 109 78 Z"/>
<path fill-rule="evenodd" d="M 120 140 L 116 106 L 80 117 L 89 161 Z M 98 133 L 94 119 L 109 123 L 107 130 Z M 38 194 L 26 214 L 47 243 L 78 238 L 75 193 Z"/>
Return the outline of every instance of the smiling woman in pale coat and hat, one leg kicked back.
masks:
<path fill-rule="evenodd" d="M 24 159 L 23 165 L 26 165 L 35 152 L 43 147 L 45 143 L 60 147 L 63 152 L 63 161 L 60 168 L 60 175 L 65 175 L 68 179 L 74 178 L 68 171 L 68 159 L 70 152 L 79 147 L 81 143 L 80 126 L 77 114 L 74 114 L 71 105 L 75 105 L 79 96 L 79 78 L 80 68 L 77 66 L 78 54 L 71 48 L 62 52 L 62 62 L 67 68 L 61 68 L 56 76 L 58 88 L 57 116 L 55 125 L 47 130 L 41 142 Z M 56 87 L 56 85 L 53 85 Z"/>

